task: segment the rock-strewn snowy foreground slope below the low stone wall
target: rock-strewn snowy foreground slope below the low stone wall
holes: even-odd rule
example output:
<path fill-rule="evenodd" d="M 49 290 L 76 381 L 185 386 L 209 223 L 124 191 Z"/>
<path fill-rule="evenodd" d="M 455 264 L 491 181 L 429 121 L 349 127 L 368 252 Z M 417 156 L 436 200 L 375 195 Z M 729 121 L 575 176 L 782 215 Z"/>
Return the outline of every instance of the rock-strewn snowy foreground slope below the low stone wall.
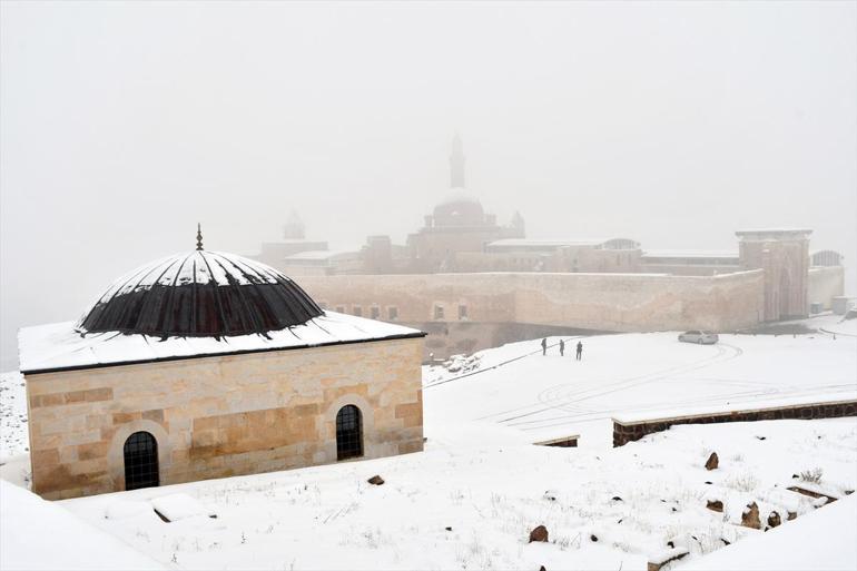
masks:
<path fill-rule="evenodd" d="M 794 473 L 818 467 L 826 485 L 857 485 L 855 419 L 678 426 L 610 451 L 533 446 L 506 433 L 434 426 L 423 453 L 60 503 L 181 569 L 642 571 L 672 549 L 689 552 L 683 564 L 721 549 L 722 540 L 764 536 L 739 525 L 751 501 L 762 521 L 771 511 L 784 520 L 794 511 L 800 522 L 828 510 L 786 489 Z M 721 462 L 709 472 L 712 450 Z M 386 483 L 368 484 L 374 474 Z M 175 494 L 210 505 L 218 518 L 105 518 L 117 502 L 156 504 Z M 706 509 L 708 498 L 722 501 L 725 512 Z M 854 503 L 844 505 L 857 516 Z M 540 524 L 549 542 L 529 544 Z"/>

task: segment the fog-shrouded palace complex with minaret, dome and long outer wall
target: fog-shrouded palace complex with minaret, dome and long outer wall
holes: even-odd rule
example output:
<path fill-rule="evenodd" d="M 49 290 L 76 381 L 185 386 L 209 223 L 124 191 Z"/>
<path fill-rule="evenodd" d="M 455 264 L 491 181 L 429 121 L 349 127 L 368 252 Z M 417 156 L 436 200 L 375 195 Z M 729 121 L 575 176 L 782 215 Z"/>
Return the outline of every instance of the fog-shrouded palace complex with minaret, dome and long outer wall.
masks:
<path fill-rule="evenodd" d="M 465 187 L 460 137 L 450 189 L 405 246 L 370 236 L 358 252 L 295 253 L 277 267 L 338 312 L 428 332 L 426 358 L 545 335 L 735 331 L 830 309 L 843 257 L 810 256 L 810 230 L 741 230 L 726 252 L 644 249 L 628 237 L 532 239 L 498 225 Z M 841 307 L 840 307 L 841 308 Z"/>

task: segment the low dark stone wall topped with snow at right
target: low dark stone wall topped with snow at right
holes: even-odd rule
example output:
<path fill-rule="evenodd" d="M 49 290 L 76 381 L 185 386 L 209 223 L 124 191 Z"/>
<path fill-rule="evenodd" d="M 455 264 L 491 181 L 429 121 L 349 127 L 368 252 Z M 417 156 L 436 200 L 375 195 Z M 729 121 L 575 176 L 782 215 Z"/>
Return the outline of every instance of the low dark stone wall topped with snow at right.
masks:
<path fill-rule="evenodd" d="M 676 424 L 713 424 L 720 422 L 778 421 L 784 419 L 814 420 L 840 416 L 857 416 L 857 401 L 776 406 L 634 422 L 622 422 L 613 419 L 613 447 L 623 446 L 629 442 L 642 439 L 647 434 L 666 431 Z"/>

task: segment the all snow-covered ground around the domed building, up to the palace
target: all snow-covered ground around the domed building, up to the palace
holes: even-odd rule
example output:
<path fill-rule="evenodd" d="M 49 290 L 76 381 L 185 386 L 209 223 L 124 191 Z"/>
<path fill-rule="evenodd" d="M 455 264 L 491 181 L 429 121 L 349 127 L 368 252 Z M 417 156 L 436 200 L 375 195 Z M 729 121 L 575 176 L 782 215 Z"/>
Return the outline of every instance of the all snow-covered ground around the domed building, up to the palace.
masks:
<path fill-rule="evenodd" d="M 555 346 L 542 356 L 540 339 L 511 344 L 424 368 L 423 453 L 55 505 L 177 569 L 643 570 L 672 550 L 689 551 L 673 569 L 741 569 L 767 550 L 777 569 L 798 569 L 780 561 L 789 548 L 811 548 L 788 539 L 798 524 L 809 530 L 801 538 L 829 532 L 835 554 L 818 568 L 855 569 L 857 536 L 841 520 L 857 520 L 857 494 L 847 495 L 857 486 L 857 419 L 683 425 L 611 447 L 613 414 L 857 397 L 850 322 L 816 321 L 836 337 L 723 335 L 698 346 L 676 334 L 609 335 L 583 338 L 580 362 L 578 339 L 564 357 Z M 20 377 L 3 375 L 0 388 L 0 455 L 18 454 L 0 473 L 24 483 Z M 581 447 L 532 444 L 571 434 Z M 720 466 L 707 471 L 713 451 Z M 368 484 L 374 474 L 386 483 Z M 802 482 L 811 474 L 820 481 Z M 786 490 L 796 482 L 843 499 L 818 509 Z M 740 526 L 748 502 L 762 523 L 777 511 L 784 524 Z M 789 512 L 797 520 L 785 521 Z M 540 524 L 549 542 L 528 543 Z M 711 551 L 716 563 L 701 557 Z"/>

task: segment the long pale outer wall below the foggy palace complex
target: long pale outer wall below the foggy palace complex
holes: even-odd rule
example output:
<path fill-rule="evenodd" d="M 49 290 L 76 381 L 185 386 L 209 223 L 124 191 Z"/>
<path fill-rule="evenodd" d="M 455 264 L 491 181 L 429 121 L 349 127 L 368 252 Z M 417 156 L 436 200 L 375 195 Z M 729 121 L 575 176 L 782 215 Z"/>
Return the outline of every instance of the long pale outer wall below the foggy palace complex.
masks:
<path fill-rule="evenodd" d="M 391 306 L 403 323 L 519 323 L 636 332 L 732 331 L 756 325 L 764 307 L 761 270 L 718 276 L 651 274 L 422 274 L 305 277 L 304 289 L 351 313 Z M 460 319 L 460 306 L 466 318 Z M 442 318 L 436 318 L 440 307 Z"/>

